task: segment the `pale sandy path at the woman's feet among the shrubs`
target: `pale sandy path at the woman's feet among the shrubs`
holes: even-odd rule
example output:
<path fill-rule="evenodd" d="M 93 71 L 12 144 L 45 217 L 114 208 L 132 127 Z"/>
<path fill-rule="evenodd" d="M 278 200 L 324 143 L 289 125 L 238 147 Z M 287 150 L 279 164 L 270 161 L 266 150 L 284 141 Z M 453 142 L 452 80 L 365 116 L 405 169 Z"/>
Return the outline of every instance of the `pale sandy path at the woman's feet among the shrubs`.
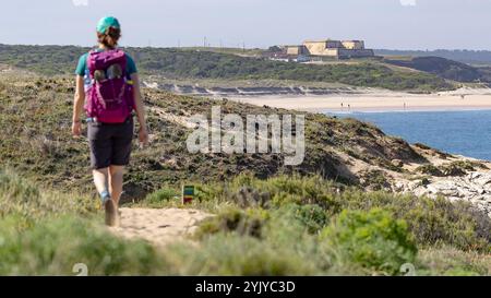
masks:
<path fill-rule="evenodd" d="M 209 216 L 199 210 L 121 208 L 121 225 L 109 228 L 127 239 L 143 239 L 157 246 L 183 240 Z"/>

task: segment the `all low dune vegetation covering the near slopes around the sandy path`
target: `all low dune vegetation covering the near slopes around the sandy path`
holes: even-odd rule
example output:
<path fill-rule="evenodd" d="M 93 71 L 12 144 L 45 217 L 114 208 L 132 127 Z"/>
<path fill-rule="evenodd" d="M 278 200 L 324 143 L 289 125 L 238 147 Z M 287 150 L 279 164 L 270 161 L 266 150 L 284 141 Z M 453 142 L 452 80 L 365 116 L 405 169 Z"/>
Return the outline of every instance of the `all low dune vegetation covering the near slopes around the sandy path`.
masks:
<path fill-rule="evenodd" d="M 367 192 L 340 162 L 350 152 L 381 168 L 424 163 L 403 140 L 354 119 L 308 115 L 302 166 L 284 166 L 282 155 L 189 155 L 190 130 L 163 115 L 208 115 L 209 102 L 151 90 L 153 144 L 134 153 L 128 205 L 183 207 L 177 198 L 187 181 L 196 186 L 192 207 L 216 216 L 192 236 L 197 245 L 117 238 L 92 194 L 86 141 L 70 135 L 72 78 L 2 79 L 0 274 L 72 275 L 79 263 L 89 275 L 403 275 L 406 263 L 419 275 L 490 274 L 486 214 Z M 241 116 L 286 112 L 219 104 Z"/>

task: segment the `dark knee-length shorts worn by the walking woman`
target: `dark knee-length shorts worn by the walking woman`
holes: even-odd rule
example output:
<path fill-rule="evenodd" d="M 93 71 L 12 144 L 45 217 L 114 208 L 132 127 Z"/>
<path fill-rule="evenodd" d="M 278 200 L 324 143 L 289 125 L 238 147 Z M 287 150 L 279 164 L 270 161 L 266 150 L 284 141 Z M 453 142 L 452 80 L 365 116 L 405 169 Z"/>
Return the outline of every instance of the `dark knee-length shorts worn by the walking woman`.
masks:
<path fill-rule="evenodd" d="M 103 169 L 130 163 L 133 140 L 133 118 L 121 124 L 88 123 L 91 166 Z"/>

